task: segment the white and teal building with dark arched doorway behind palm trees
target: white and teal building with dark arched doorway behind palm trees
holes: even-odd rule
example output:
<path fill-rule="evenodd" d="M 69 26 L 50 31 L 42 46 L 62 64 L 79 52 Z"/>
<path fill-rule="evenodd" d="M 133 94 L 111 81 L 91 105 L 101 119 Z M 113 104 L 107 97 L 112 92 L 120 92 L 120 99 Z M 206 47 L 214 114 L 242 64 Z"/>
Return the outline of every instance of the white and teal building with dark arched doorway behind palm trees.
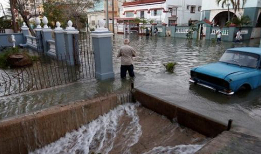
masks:
<path fill-rule="evenodd" d="M 232 4 L 229 5 L 230 8 L 230 19 L 232 17 L 241 17 L 246 15 L 250 17 L 251 24 L 249 30 L 245 33 L 248 33 L 250 38 L 260 38 L 261 36 L 261 1 L 260 0 L 248 0 L 246 1 L 244 7 L 242 7 L 242 0 L 240 0 L 240 9 L 234 13 Z M 221 7 L 222 2 L 218 5 L 216 0 L 202 0 L 202 18 L 207 19 L 212 22 L 213 26 L 224 26 L 228 21 L 228 8 L 227 5 L 224 5 L 224 8 Z M 251 35 L 249 34 L 251 33 Z"/>

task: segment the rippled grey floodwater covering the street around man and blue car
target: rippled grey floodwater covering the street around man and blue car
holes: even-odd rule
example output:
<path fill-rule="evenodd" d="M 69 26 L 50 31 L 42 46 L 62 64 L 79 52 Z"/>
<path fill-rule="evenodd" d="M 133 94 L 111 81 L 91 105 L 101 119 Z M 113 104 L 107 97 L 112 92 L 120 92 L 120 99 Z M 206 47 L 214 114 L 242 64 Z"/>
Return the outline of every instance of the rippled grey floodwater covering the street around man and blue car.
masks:
<path fill-rule="evenodd" d="M 217 44 L 211 41 L 188 43 L 186 39 L 170 37 L 115 35 L 113 39 L 115 80 L 103 82 L 84 80 L 29 94 L 1 97 L 0 119 L 85 99 L 98 93 L 129 88 L 130 81 L 121 81 L 119 78 L 120 58 L 116 58 L 124 38 L 129 38 L 130 45 L 137 50 L 137 57 L 134 59 L 136 75 L 134 87 L 224 123 L 233 119 L 234 126 L 239 125 L 261 133 L 261 89 L 226 96 L 189 84 L 189 73 L 192 67 L 217 61 L 227 48 L 258 47 L 259 40 L 251 40 L 243 44 L 228 42 Z M 169 61 L 178 63 L 173 74 L 165 72 L 163 66 Z"/>

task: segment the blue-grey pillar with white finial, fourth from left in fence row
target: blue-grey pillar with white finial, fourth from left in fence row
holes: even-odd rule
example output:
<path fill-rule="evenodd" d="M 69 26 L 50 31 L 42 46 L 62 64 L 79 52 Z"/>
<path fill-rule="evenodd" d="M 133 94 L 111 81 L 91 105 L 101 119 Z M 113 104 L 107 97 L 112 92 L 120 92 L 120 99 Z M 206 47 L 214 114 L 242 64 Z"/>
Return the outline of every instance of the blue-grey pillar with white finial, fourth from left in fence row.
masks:
<path fill-rule="evenodd" d="M 64 42 L 64 30 L 61 28 L 60 22 L 56 22 L 56 28 L 54 29 L 54 39 L 55 39 L 55 52 L 56 58 L 59 60 L 66 59 L 66 49 L 65 49 L 65 42 Z"/>

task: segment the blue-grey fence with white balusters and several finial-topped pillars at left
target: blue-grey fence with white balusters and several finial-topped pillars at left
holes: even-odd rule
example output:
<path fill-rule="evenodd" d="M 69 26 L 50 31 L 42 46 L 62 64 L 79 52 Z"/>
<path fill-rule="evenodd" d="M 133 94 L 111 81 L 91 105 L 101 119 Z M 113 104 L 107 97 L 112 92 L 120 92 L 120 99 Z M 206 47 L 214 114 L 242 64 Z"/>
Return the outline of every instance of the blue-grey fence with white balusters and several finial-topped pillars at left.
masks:
<path fill-rule="evenodd" d="M 33 50 L 37 50 L 37 52 L 47 54 L 59 60 L 64 60 L 64 55 L 68 57 L 79 55 L 78 48 L 74 48 L 78 42 L 73 41 L 73 38 L 77 37 L 76 35 L 79 31 L 72 27 L 72 21 L 68 21 L 66 29 L 62 29 L 60 22 L 56 22 L 57 27 L 54 30 L 47 26 L 48 19 L 46 17 L 43 17 L 42 20 L 43 27 L 40 26 L 41 20 L 39 17 L 35 18 L 35 23 L 37 25 L 34 29 L 35 36 L 30 35 L 29 28 L 25 23 L 21 27 L 22 33 L 12 33 L 15 36 L 16 46 L 27 46 Z M 10 41 L 12 34 L 0 34 L 0 47 L 13 46 L 13 43 Z M 69 59 L 68 64 L 75 65 L 76 62 Z"/>

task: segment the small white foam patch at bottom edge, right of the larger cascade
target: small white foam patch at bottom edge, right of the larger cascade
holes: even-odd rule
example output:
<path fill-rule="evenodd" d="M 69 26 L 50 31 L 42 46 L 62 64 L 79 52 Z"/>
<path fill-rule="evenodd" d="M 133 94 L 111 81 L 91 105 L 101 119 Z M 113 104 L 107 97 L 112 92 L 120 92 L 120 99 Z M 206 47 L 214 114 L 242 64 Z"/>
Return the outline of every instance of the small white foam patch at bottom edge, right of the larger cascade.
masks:
<path fill-rule="evenodd" d="M 197 152 L 201 147 L 204 145 L 177 145 L 174 147 L 167 146 L 159 146 L 159 147 L 154 147 L 152 150 L 145 152 L 143 154 L 193 154 Z"/>

